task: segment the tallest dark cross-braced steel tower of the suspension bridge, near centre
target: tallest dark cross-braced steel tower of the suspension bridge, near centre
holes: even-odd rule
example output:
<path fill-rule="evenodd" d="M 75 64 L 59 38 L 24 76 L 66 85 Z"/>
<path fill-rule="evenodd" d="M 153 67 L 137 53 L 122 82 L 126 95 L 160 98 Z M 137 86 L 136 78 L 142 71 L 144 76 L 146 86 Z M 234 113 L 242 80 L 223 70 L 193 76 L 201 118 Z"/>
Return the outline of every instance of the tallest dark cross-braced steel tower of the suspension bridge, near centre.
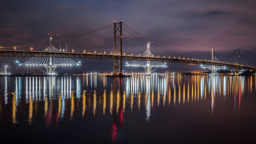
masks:
<path fill-rule="evenodd" d="M 114 22 L 114 55 L 119 55 L 119 59 L 114 59 L 114 75 L 122 75 L 122 21 Z"/>

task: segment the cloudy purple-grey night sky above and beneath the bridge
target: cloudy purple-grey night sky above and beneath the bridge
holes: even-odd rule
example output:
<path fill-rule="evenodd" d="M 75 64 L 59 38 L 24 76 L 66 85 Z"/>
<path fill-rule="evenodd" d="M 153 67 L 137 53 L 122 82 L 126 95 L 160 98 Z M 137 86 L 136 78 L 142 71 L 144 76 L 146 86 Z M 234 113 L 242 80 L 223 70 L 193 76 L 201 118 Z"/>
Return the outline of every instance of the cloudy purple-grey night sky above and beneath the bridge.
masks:
<path fill-rule="evenodd" d="M 240 48 L 241 63 L 256 66 L 255 7 L 255 0 L 1 0 L 0 46 L 47 42 L 49 32 L 60 34 L 55 40 L 63 39 L 122 20 L 175 54 L 210 60 L 207 47 L 215 47 L 217 58 Z M 0 60 L 2 65 L 13 58 Z M 113 60 L 82 62 L 84 72 L 113 70 Z M 198 65 L 168 63 L 164 71 L 197 70 Z"/>

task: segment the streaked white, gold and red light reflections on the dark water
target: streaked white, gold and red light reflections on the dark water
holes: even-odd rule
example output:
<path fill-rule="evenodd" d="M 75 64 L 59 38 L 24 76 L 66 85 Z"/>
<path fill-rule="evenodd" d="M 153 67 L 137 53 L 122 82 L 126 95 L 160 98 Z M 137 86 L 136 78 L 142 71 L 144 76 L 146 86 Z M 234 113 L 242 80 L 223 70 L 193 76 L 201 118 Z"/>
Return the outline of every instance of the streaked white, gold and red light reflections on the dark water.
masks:
<path fill-rule="evenodd" d="M 156 113 L 163 115 L 161 111 L 174 107 L 201 106 L 214 117 L 228 105 L 234 116 L 239 115 L 244 98 L 255 94 L 255 80 L 253 76 L 1 77 L 0 126 L 9 122 L 18 126 L 26 119 L 28 124 L 57 127 L 66 120 L 112 115 L 111 140 L 122 141 L 128 113 L 150 123 Z"/>

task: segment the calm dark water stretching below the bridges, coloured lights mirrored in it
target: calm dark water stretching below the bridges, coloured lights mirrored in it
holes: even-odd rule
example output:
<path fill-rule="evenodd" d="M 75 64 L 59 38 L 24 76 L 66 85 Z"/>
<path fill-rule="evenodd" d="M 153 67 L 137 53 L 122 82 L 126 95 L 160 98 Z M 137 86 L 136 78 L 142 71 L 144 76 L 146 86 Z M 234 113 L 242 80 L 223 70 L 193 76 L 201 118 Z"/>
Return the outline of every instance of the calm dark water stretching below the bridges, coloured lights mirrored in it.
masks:
<path fill-rule="evenodd" d="M 1 143 L 255 141 L 255 76 L 0 77 Z"/>

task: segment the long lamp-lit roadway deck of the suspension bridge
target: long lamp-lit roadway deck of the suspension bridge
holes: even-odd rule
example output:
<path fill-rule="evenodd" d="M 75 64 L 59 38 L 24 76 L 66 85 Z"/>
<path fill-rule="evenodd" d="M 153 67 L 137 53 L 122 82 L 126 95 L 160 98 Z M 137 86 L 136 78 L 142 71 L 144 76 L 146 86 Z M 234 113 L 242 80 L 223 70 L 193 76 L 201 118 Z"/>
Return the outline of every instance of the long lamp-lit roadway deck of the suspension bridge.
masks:
<path fill-rule="evenodd" d="M 52 57 L 52 58 L 79 58 L 79 59 L 103 59 L 103 60 L 150 60 L 150 61 L 162 61 L 162 62 L 180 62 L 180 63 L 194 63 L 194 64 L 206 64 L 216 65 L 224 67 L 244 68 L 256 70 L 256 67 L 243 66 L 238 64 L 229 64 L 225 62 L 211 62 L 203 60 L 185 60 L 185 59 L 171 59 L 160 57 L 141 57 L 130 55 L 111 55 L 100 53 L 69 53 L 69 52 L 39 52 L 39 51 L 9 51 L 0 50 L 0 57 Z"/>

